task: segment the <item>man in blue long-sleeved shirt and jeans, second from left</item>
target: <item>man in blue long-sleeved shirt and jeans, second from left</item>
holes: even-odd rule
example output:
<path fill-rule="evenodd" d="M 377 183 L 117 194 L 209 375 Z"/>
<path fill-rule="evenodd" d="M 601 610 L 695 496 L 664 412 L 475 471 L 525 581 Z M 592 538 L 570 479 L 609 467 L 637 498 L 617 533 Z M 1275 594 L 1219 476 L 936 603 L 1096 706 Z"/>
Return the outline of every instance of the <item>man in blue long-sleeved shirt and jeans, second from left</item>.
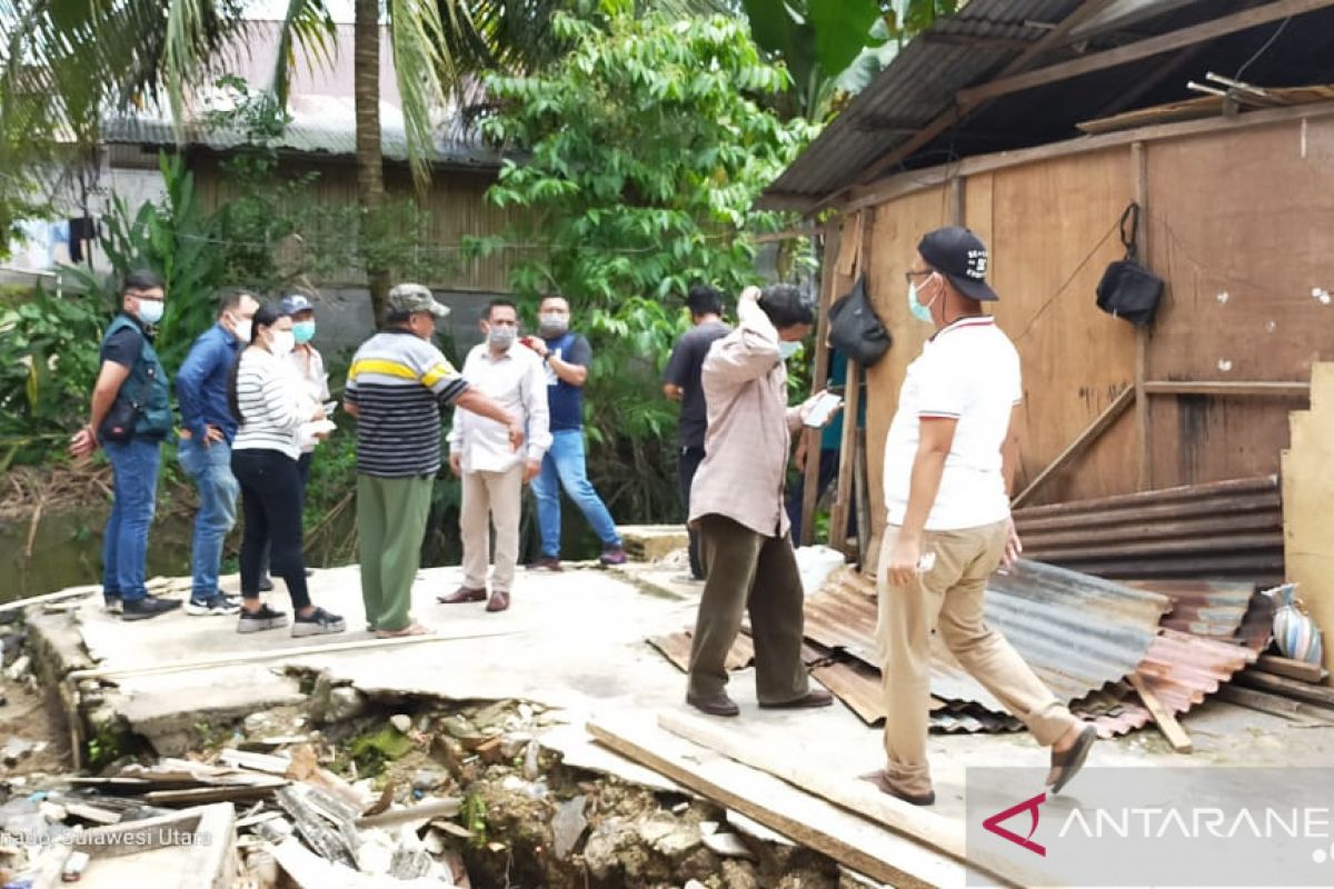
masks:
<path fill-rule="evenodd" d="M 187 614 L 235 614 L 240 610 L 240 602 L 217 589 L 223 542 L 236 524 L 240 490 L 232 476 L 236 420 L 227 407 L 227 380 L 237 351 L 249 344 L 251 319 L 257 309 L 259 301 L 249 293 L 224 297 L 217 323 L 199 335 L 176 373 L 176 400 L 180 403 L 176 453 L 181 469 L 195 480 L 199 490 Z"/>

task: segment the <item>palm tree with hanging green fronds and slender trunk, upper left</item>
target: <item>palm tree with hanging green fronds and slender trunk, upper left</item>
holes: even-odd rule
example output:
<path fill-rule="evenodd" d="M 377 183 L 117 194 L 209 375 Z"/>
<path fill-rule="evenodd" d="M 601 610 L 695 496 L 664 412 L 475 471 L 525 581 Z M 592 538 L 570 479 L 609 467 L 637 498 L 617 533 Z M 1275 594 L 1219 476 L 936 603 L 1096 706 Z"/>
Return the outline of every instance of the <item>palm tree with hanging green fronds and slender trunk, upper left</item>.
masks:
<path fill-rule="evenodd" d="M 356 0 L 354 72 L 356 183 L 363 233 L 383 224 L 380 144 L 382 21 L 394 53 L 408 161 L 419 187 L 430 181 L 431 112 L 462 99 L 487 68 L 523 68 L 550 57 L 546 24 L 566 0 Z M 24 132 L 61 132 L 96 144 L 101 116 L 165 100 L 180 127 L 191 84 L 220 73 L 221 49 L 245 27 L 241 0 L 0 0 L 11 36 L 0 72 L 0 161 Z M 9 27 L 12 25 L 12 28 Z M 336 29 L 325 0 L 289 0 L 273 91 L 287 99 L 288 68 L 300 45 L 319 59 Z M 12 139 L 11 139 L 12 137 Z M 5 183 L 0 181 L 0 189 Z M 363 247 L 370 241 L 363 237 Z M 388 269 L 362 251 L 376 317 Z"/>

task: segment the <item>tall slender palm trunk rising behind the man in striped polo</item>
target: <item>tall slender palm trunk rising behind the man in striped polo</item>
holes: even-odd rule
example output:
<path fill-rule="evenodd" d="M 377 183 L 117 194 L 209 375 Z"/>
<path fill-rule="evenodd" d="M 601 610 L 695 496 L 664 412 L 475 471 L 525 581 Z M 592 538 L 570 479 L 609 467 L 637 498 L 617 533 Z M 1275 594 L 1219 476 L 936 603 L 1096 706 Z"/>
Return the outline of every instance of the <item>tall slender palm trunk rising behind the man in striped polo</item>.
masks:
<path fill-rule="evenodd" d="M 359 251 L 371 288 L 375 324 L 384 323 L 390 272 L 375 257 L 384 213 L 384 156 L 380 151 L 380 1 L 356 0 L 352 53 L 356 108 L 356 201 L 362 211 Z"/>

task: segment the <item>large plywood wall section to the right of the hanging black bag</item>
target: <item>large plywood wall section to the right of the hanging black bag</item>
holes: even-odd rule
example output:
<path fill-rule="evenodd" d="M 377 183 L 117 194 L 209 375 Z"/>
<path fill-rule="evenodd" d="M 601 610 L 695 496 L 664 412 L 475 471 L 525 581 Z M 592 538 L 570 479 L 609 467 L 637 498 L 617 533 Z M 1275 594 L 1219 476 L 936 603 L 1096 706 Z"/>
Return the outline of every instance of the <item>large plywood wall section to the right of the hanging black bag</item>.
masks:
<path fill-rule="evenodd" d="M 1149 144 L 1154 380 L 1306 381 L 1334 360 L 1334 121 L 1325 117 Z M 1305 399 L 1159 396 L 1153 486 L 1279 469 Z"/>

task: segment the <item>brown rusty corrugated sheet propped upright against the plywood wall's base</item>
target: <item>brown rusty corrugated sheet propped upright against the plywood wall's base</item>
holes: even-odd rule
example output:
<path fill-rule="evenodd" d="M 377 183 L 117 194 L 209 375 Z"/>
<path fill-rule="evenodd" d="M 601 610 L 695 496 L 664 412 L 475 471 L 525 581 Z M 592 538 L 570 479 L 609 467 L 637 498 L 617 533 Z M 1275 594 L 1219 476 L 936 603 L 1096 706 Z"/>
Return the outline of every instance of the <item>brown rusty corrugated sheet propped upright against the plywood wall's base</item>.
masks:
<path fill-rule="evenodd" d="M 1101 577 L 1267 585 L 1283 574 L 1277 476 L 1030 506 L 1014 520 L 1030 557 Z"/>

